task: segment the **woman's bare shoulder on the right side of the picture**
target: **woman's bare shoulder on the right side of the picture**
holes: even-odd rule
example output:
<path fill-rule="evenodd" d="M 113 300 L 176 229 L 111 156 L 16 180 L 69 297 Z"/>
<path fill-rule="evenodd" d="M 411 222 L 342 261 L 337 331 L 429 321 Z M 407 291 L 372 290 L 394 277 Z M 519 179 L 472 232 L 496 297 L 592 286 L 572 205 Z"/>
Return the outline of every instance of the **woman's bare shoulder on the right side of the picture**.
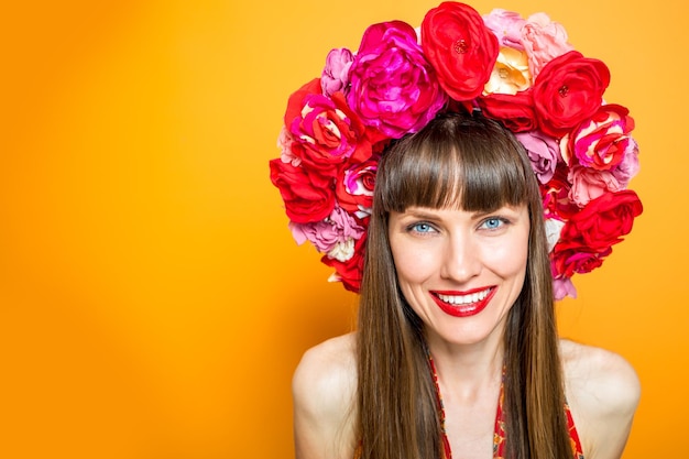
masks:
<path fill-rule="evenodd" d="M 567 401 L 587 459 L 622 456 L 641 397 L 634 368 L 604 349 L 560 341 Z"/>

